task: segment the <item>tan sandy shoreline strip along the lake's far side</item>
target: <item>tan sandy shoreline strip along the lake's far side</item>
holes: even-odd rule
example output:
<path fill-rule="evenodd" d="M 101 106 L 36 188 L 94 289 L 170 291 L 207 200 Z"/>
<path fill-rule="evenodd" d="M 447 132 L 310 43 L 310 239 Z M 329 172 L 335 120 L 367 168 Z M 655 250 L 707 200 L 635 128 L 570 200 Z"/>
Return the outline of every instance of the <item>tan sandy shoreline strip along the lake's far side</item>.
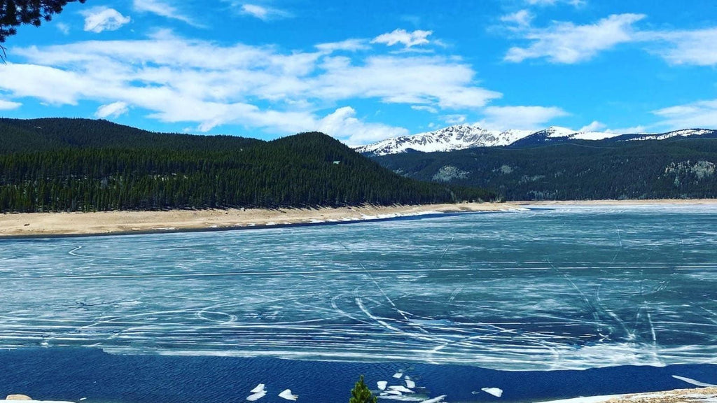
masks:
<path fill-rule="evenodd" d="M 717 199 L 507 201 L 503 203 L 320 207 L 316 209 L 208 209 L 0 214 L 0 240 L 44 237 L 231 231 L 349 224 L 437 214 L 521 211 L 526 206 L 717 205 Z"/>

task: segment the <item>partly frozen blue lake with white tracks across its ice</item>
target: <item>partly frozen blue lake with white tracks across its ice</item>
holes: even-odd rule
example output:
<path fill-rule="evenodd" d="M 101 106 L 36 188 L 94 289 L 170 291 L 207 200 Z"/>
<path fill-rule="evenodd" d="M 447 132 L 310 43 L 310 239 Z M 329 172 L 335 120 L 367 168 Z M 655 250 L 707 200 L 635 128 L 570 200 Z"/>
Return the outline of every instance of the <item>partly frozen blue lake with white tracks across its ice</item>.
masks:
<path fill-rule="evenodd" d="M 717 208 L 708 206 L 3 240 L 0 283 L 0 348 L 11 349 L 0 360 L 20 372 L 58 356 L 97 366 L 105 394 L 87 402 L 151 401 L 115 385 L 122 378 L 109 374 L 127 363 L 169 365 L 178 370 L 163 384 L 222 396 L 202 402 L 242 401 L 245 392 L 219 391 L 259 381 L 335 402 L 359 373 L 398 384 L 398 369 L 413 371 L 425 396 L 452 402 L 493 399 L 480 388 L 500 379 L 502 400 L 617 393 L 615 379 L 631 371 L 644 390 L 689 386 L 672 374 L 717 383 Z M 77 371 L 49 384 L 92 379 Z M 197 371 L 214 375 L 191 386 Z M 0 392 L 14 385 L 7 376 Z M 176 399 L 163 401 L 186 401 Z"/>

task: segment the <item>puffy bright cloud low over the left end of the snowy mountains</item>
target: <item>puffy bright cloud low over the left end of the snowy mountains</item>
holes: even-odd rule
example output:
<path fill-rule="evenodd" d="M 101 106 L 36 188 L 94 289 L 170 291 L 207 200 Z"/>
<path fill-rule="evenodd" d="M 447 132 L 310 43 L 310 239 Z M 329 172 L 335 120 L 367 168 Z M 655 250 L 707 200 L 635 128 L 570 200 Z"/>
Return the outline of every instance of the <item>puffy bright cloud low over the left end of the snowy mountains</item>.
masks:
<path fill-rule="evenodd" d="M 318 131 L 336 137 L 349 146 L 362 146 L 384 138 L 407 136 L 405 128 L 381 123 L 364 123 L 356 118 L 356 110 L 346 106 L 321 119 Z"/>

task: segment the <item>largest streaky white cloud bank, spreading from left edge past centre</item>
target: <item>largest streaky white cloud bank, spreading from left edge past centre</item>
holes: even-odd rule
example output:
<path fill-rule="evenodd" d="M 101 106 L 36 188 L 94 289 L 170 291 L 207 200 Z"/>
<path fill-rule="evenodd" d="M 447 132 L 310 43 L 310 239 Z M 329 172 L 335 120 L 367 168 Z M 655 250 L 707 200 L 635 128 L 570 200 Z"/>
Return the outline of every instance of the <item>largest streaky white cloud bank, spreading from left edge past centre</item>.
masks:
<path fill-rule="evenodd" d="M 326 110 L 361 99 L 465 110 L 500 97 L 476 84 L 470 65 L 437 55 L 349 59 L 272 46 L 222 46 L 168 32 L 143 40 L 19 48 L 14 54 L 25 62 L 0 66 L 0 90 L 13 97 L 50 105 L 100 103 L 98 116 L 133 108 L 201 131 L 224 124 L 275 134 L 323 128 L 360 143 L 405 129 L 364 123 L 353 109 L 328 116 Z"/>

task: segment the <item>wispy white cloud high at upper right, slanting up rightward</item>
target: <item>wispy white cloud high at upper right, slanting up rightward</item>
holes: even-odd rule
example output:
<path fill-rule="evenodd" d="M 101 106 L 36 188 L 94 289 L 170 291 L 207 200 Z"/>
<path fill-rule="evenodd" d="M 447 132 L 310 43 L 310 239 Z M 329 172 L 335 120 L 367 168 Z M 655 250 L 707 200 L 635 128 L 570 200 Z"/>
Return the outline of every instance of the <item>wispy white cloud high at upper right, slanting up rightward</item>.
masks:
<path fill-rule="evenodd" d="M 614 14 L 595 24 L 554 22 L 547 28 L 528 28 L 523 38 L 531 42 L 530 46 L 511 47 L 504 60 L 545 58 L 553 63 L 583 62 L 618 44 L 637 40 L 632 24 L 644 18 L 643 14 Z"/>

